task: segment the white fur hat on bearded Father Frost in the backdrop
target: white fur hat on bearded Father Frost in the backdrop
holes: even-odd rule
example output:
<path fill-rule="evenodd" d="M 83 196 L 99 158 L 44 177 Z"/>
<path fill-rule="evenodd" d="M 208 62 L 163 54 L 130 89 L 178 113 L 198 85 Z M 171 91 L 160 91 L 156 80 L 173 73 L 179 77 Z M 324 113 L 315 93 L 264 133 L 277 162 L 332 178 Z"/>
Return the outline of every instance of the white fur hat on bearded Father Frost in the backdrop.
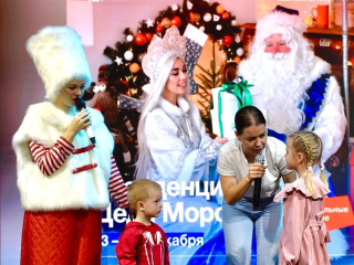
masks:
<path fill-rule="evenodd" d="M 256 42 L 263 42 L 268 36 L 282 34 L 290 29 L 302 35 L 306 26 L 296 14 L 273 11 L 258 21 L 254 36 Z"/>

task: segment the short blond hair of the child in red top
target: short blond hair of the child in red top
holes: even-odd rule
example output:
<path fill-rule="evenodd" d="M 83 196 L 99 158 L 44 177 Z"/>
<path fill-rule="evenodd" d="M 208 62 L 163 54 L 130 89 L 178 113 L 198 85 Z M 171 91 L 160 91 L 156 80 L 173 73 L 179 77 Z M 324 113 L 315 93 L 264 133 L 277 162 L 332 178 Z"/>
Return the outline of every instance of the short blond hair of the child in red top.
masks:
<path fill-rule="evenodd" d="M 148 179 L 134 180 L 128 188 L 129 215 L 132 221 L 136 218 L 137 203 L 146 201 L 152 190 L 163 191 L 157 182 Z"/>

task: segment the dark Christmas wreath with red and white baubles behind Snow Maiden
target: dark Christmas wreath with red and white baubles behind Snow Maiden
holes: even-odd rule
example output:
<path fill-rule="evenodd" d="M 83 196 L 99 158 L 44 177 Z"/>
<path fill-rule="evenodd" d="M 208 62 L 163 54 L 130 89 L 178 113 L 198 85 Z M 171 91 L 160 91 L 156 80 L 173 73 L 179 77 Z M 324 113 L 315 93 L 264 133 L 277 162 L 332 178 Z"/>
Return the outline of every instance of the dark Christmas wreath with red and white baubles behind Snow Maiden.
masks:
<path fill-rule="evenodd" d="M 148 18 L 142 20 L 138 22 L 135 32 L 126 28 L 123 32 L 124 39 L 116 42 L 113 47 L 107 46 L 104 50 L 104 54 L 112 60 L 112 64 L 106 65 L 106 75 L 110 85 L 118 87 L 122 82 L 126 82 L 129 89 L 134 88 L 134 91 L 136 91 L 135 94 L 131 93 L 129 95 L 140 98 L 143 95 L 142 87 L 149 82 L 149 78 L 137 65 L 142 67 L 142 59 L 154 34 L 163 38 L 166 30 L 171 25 L 176 25 L 180 34 L 183 34 L 188 23 L 194 25 L 197 32 L 206 34 L 212 43 L 220 43 L 218 49 L 225 52 L 225 61 L 233 60 L 238 54 L 238 49 L 242 47 L 241 39 L 238 36 L 241 30 L 237 26 L 236 17 L 232 15 L 229 10 L 225 10 L 218 2 L 208 0 L 184 0 L 180 3 L 176 2 L 166 7 L 166 9 L 159 11 L 154 19 Z M 191 38 L 191 40 L 194 39 Z M 237 40 L 239 41 L 237 42 Z M 202 47 L 204 44 L 196 41 L 198 44 L 192 44 L 191 41 L 189 42 L 187 49 L 195 51 L 190 55 L 194 61 L 199 56 L 199 52 L 196 52 L 196 49 Z M 195 57 L 192 55 L 195 55 Z M 212 57 L 214 56 L 215 55 L 212 55 Z M 196 62 L 190 63 L 190 66 L 188 66 L 192 83 L 191 94 L 198 92 L 198 87 L 194 85 L 191 78 L 192 65 L 195 64 Z"/>

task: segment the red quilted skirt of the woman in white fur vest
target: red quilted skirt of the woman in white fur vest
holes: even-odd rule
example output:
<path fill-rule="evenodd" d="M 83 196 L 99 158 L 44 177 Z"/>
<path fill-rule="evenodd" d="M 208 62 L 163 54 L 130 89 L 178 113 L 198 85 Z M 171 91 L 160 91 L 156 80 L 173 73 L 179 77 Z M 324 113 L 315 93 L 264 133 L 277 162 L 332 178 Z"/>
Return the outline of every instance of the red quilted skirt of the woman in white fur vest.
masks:
<path fill-rule="evenodd" d="M 101 264 L 101 211 L 24 212 L 21 265 Z"/>

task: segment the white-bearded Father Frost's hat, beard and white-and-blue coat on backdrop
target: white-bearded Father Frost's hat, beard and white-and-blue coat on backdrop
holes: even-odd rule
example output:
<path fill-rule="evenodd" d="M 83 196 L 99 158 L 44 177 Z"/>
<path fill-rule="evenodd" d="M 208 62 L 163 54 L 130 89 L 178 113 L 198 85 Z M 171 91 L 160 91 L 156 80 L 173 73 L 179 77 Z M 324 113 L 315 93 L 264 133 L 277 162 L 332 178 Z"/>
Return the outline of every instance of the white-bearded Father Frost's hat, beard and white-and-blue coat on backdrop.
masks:
<path fill-rule="evenodd" d="M 324 162 L 340 148 L 346 120 L 339 84 L 330 75 L 331 66 L 314 55 L 303 38 L 304 30 L 296 14 L 275 10 L 266 15 L 257 23 L 249 57 L 240 63 L 238 74 L 254 85 L 250 91 L 263 94 L 262 106 L 257 107 L 264 114 L 269 135 L 285 140 L 298 130 L 313 131 L 323 142 Z M 289 53 L 264 52 L 266 39 L 273 34 L 281 34 Z M 331 232 L 331 237 L 329 252 L 345 253 L 347 244 L 341 231 Z"/>

